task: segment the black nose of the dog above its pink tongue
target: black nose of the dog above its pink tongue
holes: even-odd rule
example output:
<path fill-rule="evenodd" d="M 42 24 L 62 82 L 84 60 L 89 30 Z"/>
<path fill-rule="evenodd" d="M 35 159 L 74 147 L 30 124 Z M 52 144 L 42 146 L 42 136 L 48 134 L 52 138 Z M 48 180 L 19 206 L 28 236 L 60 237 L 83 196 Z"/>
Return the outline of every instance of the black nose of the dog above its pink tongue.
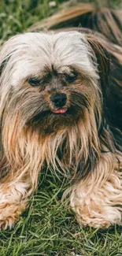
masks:
<path fill-rule="evenodd" d="M 50 97 L 50 100 L 54 103 L 54 106 L 62 107 L 65 105 L 67 96 L 65 95 L 65 93 L 60 93 L 60 94 L 52 95 Z"/>

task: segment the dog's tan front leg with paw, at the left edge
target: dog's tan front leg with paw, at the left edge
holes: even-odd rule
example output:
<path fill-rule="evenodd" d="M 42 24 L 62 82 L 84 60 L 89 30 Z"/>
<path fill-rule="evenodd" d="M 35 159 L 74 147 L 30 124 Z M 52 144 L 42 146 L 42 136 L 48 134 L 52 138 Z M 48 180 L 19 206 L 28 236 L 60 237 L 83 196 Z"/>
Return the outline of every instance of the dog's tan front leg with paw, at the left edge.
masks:
<path fill-rule="evenodd" d="M 25 181 L 9 181 L 0 185 L 0 229 L 12 228 L 28 206 L 31 189 Z"/>

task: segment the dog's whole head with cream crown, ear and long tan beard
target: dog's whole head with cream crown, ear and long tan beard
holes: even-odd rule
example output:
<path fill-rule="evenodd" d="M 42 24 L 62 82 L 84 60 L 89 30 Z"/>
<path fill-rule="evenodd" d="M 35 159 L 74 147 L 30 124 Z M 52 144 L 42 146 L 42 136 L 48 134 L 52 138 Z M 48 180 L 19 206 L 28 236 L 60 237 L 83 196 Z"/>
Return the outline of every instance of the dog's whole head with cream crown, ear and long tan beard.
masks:
<path fill-rule="evenodd" d="M 0 57 L 1 122 L 8 155 L 14 151 L 20 161 L 26 150 L 35 152 L 36 135 L 41 141 L 54 135 L 52 150 L 45 147 L 46 157 L 54 158 L 52 152 L 66 136 L 70 160 L 74 154 L 87 159 L 98 152 L 106 57 L 96 42 L 79 32 L 37 32 L 5 43 Z"/>

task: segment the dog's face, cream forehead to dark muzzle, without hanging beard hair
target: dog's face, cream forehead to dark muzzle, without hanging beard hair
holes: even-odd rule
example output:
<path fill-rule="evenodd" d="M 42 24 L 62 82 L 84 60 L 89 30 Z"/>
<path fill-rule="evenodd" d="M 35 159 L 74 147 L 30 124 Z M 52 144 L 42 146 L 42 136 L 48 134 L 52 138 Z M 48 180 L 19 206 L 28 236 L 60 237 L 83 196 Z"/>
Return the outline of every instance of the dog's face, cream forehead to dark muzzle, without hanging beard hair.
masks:
<path fill-rule="evenodd" d="M 1 102 L 24 127 L 50 134 L 85 121 L 95 108 L 97 66 L 79 32 L 17 35 L 2 57 Z"/>

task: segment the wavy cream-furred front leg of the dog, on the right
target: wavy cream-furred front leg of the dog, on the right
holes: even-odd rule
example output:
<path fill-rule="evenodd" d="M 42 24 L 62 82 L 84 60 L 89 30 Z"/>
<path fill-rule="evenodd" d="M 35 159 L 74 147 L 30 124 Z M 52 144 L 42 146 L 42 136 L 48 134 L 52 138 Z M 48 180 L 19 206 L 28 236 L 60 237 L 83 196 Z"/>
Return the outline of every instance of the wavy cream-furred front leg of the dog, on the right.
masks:
<path fill-rule="evenodd" d="M 70 206 L 81 224 L 108 228 L 121 223 L 122 173 L 113 154 L 104 154 L 96 169 L 72 187 Z"/>

